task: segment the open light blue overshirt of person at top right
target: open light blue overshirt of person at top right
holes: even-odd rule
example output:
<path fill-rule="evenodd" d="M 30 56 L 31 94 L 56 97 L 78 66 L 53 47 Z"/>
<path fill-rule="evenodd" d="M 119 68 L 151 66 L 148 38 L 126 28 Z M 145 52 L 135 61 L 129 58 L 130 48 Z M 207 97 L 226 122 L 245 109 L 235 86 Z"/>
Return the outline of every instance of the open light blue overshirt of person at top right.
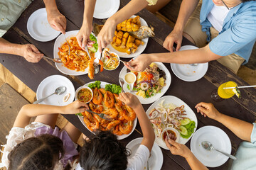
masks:
<path fill-rule="evenodd" d="M 203 0 L 200 12 L 202 30 L 208 35 L 210 51 L 216 55 L 226 56 L 235 53 L 245 59 L 246 64 L 252 53 L 256 40 L 256 1 L 247 1 L 230 9 L 224 19 L 223 29 L 210 41 L 210 27 L 207 19 L 213 8 L 213 0 Z"/>

